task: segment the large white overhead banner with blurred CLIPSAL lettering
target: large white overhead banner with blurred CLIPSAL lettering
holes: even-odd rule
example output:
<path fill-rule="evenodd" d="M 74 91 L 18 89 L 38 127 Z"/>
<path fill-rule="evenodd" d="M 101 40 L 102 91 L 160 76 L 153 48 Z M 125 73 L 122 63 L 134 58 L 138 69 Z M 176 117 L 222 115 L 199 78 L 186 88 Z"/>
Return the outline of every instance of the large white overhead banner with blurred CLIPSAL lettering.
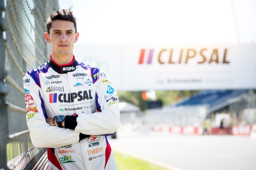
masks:
<path fill-rule="evenodd" d="M 256 88 L 256 45 L 75 45 L 118 91 Z"/>

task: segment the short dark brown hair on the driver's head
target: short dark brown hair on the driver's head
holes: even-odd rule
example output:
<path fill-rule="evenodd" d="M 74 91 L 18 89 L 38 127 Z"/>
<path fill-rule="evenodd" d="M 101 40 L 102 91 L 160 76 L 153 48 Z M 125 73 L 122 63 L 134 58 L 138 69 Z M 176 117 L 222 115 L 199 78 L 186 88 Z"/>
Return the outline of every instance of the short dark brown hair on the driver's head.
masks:
<path fill-rule="evenodd" d="M 47 19 L 46 24 L 46 30 L 47 33 L 50 34 L 50 28 L 52 27 L 52 21 L 54 20 L 64 20 L 64 21 L 71 21 L 74 23 L 75 26 L 75 32 L 77 32 L 76 29 L 76 17 L 73 15 L 73 12 L 68 9 L 62 9 L 59 11 L 54 11 Z"/>

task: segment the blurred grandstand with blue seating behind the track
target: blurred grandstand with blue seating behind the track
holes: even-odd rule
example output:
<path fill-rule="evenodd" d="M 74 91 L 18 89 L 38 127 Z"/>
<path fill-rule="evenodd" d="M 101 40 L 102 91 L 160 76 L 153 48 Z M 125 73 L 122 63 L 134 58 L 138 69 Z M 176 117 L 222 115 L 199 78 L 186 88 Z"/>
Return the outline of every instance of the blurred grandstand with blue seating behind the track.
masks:
<path fill-rule="evenodd" d="M 227 126 L 253 124 L 256 122 L 255 110 L 250 113 L 247 110 L 255 108 L 255 101 L 255 92 L 251 90 L 201 91 L 173 105 L 146 111 L 142 121 L 149 125 L 201 127 L 208 119 L 212 126 L 218 126 L 215 115 L 226 113 L 230 117 Z"/>

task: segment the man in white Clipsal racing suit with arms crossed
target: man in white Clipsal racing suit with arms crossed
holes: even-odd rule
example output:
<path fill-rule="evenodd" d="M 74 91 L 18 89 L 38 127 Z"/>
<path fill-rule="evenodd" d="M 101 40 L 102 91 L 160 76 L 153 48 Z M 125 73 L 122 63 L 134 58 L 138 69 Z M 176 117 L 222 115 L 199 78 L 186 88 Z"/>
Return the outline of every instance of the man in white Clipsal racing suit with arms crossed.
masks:
<path fill-rule="evenodd" d="M 116 170 L 106 135 L 119 127 L 118 96 L 105 73 L 77 62 L 79 38 L 69 10 L 53 12 L 49 61 L 24 76 L 27 125 L 35 147 L 48 147 L 51 170 Z"/>

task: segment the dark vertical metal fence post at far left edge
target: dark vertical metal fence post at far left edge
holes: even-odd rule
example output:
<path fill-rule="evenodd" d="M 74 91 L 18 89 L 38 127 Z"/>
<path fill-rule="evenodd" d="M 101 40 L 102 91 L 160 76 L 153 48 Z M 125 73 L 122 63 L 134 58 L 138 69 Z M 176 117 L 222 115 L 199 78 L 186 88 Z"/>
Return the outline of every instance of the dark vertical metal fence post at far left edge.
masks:
<path fill-rule="evenodd" d="M 7 170 L 7 156 L 6 156 L 6 144 L 8 136 L 8 125 L 7 125 L 7 112 L 6 112 L 6 103 L 5 96 L 7 94 L 7 87 L 5 84 L 5 45 L 6 41 L 6 23 L 4 20 L 5 14 L 5 4 L 4 0 L 0 0 L 0 170 Z"/>

